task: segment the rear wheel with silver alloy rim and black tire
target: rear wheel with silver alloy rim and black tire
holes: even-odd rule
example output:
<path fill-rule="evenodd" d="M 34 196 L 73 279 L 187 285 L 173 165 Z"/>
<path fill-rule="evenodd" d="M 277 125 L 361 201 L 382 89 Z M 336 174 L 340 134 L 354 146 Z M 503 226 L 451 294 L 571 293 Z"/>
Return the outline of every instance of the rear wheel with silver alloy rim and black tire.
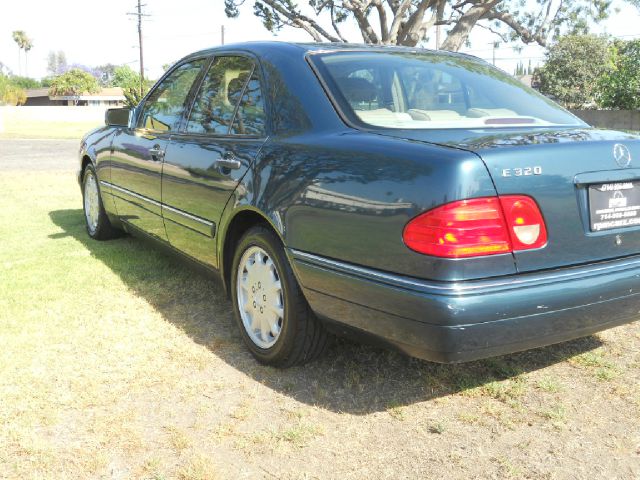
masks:
<path fill-rule="evenodd" d="M 269 229 L 253 227 L 238 243 L 231 278 L 234 313 L 245 344 L 266 365 L 290 367 L 319 356 L 327 345 L 284 254 Z"/>

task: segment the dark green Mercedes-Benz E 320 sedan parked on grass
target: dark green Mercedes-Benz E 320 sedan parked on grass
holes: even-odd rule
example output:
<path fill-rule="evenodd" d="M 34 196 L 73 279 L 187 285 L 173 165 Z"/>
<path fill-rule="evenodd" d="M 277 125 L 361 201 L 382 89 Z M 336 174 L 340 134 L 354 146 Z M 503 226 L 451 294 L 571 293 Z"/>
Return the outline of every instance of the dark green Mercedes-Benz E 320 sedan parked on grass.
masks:
<path fill-rule="evenodd" d="M 640 137 L 474 57 L 275 42 L 189 55 L 80 148 L 87 231 L 222 279 L 261 362 L 329 335 L 459 362 L 640 311 Z"/>

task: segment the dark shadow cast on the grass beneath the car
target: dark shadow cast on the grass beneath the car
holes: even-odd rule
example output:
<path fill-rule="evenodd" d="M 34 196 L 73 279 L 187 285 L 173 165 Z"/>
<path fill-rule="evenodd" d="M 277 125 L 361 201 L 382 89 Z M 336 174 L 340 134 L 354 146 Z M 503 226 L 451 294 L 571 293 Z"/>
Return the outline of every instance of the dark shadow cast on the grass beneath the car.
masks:
<path fill-rule="evenodd" d="M 229 365 L 300 402 L 334 412 L 366 414 L 443 397 L 553 365 L 601 345 L 596 337 L 458 365 L 440 365 L 337 340 L 303 367 L 278 370 L 257 364 L 242 345 L 222 286 L 149 242 L 130 236 L 91 240 L 82 210 L 50 212 L 62 232 L 109 267 L 163 318 Z"/>

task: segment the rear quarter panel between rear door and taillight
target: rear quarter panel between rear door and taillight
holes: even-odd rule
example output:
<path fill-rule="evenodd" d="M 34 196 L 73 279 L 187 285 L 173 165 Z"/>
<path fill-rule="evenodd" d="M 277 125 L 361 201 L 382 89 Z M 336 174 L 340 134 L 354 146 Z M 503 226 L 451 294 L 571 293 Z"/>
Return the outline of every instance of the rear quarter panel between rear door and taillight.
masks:
<path fill-rule="evenodd" d="M 406 223 L 437 205 L 495 195 L 473 153 L 354 131 L 275 138 L 235 192 L 265 212 L 286 246 L 433 280 L 515 272 L 513 256 L 451 260 L 408 249 Z"/>

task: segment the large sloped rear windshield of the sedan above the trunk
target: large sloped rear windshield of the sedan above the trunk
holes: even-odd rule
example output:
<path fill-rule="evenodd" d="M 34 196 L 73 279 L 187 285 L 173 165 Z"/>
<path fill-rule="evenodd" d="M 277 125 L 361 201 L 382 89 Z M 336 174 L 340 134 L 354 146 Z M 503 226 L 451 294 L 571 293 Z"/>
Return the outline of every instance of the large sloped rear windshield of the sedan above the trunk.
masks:
<path fill-rule="evenodd" d="M 352 121 L 383 128 L 585 126 L 497 68 L 440 53 L 310 55 Z"/>

